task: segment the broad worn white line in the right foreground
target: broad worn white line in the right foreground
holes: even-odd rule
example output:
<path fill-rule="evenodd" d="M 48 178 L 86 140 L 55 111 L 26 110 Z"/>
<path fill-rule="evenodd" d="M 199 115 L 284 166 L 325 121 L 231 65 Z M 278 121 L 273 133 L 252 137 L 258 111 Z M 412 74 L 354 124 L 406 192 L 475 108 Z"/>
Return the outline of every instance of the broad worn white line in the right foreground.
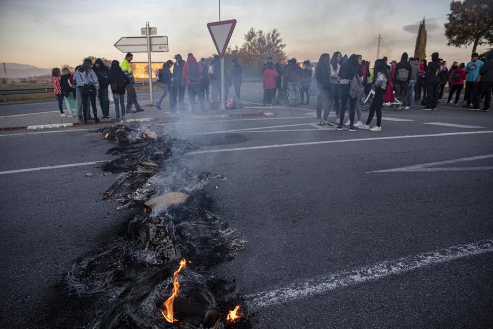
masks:
<path fill-rule="evenodd" d="M 250 308 L 260 309 L 272 305 L 283 304 L 299 298 L 322 294 L 338 288 L 363 282 L 371 282 L 390 275 L 416 270 L 424 266 L 438 265 L 454 259 L 491 252 L 493 252 L 493 239 L 488 239 L 407 256 L 405 258 L 386 260 L 368 267 L 360 267 L 350 271 L 341 271 L 315 278 L 300 279 L 297 282 L 293 282 L 275 290 L 246 295 L 245 299 Z"/>

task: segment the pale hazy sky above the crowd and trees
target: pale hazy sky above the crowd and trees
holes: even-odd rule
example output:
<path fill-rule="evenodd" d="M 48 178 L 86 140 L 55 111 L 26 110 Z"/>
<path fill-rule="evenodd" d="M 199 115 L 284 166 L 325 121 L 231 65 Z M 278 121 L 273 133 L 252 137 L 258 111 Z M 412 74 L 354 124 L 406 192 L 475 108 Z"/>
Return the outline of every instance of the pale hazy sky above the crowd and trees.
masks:
<path fill-rule="evenodd" d="M 86 56 L 122 60 L 114 47 L 120 37 L 141 36 L 148 21 L 158 36 L 168 36 L 169 52 L 152 53 L 153 62 L 189 52 L 196 57 L 215 53 L 207 23 L 219 20 L 219 0 L 2 0 L 0 62 L 39 68 L 78 65 Z M 414 54 L 418 24 L 425 16 L 426 54 L 438 51 L 452 62 L 467 62 L 471 48 L 447 46 L 443 25 L 449 0 L 221 0 L 221 20 L 236 19 L 230 41 L 240 46 L 251 27 L 277 28 L 288 58 L 317 61 L 324 52 L 357 53 L 374 62 L 377 37 L 380 57 L 399 60 Z M 486 50 L 479 47 L 478 52 Z M 135 53 L 146 62 L 146 53 Z"/>

